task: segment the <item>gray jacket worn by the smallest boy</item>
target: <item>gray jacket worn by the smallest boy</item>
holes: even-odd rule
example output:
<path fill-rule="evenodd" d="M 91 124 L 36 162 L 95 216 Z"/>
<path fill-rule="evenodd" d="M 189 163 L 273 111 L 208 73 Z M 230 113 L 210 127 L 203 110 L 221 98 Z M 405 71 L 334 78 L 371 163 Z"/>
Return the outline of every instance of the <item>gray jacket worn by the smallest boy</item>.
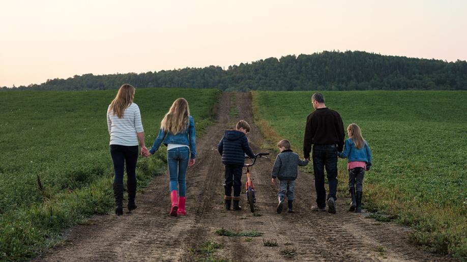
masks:
<path fill-rule="evenodd" d="M 286 149 L 277 155 L 271 176 L 279 180 L 295 180 L 298 175 L 298 166 L 306 165 L 308 165 L 307 160 L 300 159 L 297 153 Z"/>

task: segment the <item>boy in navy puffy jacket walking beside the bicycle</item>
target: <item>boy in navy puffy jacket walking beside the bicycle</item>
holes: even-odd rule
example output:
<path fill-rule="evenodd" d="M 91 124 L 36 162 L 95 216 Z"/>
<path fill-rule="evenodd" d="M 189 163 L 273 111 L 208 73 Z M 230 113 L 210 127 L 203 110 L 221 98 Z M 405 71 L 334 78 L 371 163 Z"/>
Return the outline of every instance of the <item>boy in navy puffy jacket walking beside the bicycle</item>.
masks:
<path fill-rule="evenodd" d="M 242 187 L 242 171 L 245 165 L 245 154 L 254 158 L 255 155 L 248 145 L 246 134 L 250 132 L 250 125 L 240 120 L 236 129 L 225 130 L 225 134 L 217 145 L 217 150 L 222 155 L 222 163 L 225 165 L 225 209 L 230 210 L 233 200 L 233 210 L 241 210 L 239 205 Z M 233 197 L 232 194 L 233 185 Z"/>

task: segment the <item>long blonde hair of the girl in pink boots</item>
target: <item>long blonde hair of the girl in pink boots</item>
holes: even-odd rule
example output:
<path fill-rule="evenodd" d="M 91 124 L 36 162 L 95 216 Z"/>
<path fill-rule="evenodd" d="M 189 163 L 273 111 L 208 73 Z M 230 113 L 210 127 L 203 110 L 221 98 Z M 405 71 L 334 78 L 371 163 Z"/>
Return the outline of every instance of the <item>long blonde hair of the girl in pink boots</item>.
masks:
<path fill-rule="evenodd" d="M 171 134 L 177 135 L 188 129 L 190 108 L 184 98 L 173 102 L 167 114 L 161 121 L 161 128 Z"/>

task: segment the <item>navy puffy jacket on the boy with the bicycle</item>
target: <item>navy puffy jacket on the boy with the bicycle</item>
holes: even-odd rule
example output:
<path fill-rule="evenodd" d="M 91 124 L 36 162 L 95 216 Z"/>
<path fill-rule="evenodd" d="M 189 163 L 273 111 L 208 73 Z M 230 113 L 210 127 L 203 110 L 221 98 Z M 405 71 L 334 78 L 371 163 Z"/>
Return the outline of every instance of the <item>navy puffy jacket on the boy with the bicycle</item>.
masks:
<path fill-rule="evenodd" d="M 224 165 L 245 164 L 245 153 L 254 158 L 254 153 L 248 145 L 245 134 L 239 130 L 226 130 L 221 141 L 217 145 L 217 150 L 222 155 Z"/>

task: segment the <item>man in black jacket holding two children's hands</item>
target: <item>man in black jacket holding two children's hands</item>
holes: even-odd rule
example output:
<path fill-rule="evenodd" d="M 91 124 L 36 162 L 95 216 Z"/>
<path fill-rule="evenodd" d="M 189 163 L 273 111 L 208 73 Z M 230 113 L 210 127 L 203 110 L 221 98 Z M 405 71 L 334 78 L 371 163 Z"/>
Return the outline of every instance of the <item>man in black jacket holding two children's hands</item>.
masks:
<path fill-rule="evenodd" d="M 344 146 L 344 124 L 339 113 L 326 107 L 324 96 L 314 93 L 311 104 L 315 111 L 306 119 L 305 136 L 303 139 L 303 155 L 310 158 L 311 144 L 313 144 L 313 172 L 316 188 L 315 211 L 336 213 L 337 192 L 337 152 L 342 152 Z M 329 182 L 329 194 L 326 198 L 324 186 L 324 169 Z"/>

